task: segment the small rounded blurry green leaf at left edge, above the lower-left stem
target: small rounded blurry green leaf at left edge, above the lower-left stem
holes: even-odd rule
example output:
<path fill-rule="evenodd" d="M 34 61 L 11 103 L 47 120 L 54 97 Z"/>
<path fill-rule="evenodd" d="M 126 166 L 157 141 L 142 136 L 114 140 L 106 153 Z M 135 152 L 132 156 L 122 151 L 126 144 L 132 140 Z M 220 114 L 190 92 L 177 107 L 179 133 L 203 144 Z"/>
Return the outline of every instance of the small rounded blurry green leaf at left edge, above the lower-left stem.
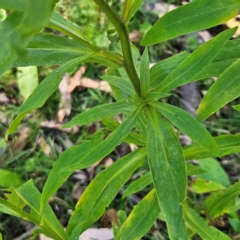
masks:
<path fill-rule="evenodd" d="M 21 176 L 15 172 L 0 169 L 0 186 L 4 188 L 19 187 L 23 184 Z"/>

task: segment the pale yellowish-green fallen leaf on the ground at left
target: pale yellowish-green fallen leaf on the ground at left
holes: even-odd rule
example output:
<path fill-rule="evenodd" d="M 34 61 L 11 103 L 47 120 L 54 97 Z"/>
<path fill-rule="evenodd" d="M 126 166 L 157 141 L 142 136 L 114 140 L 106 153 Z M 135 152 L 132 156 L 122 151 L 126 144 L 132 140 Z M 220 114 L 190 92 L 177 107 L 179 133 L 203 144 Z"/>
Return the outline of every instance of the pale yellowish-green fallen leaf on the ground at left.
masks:
<path fill-rule="evenodd" d="M 37 67 L 18 67 L 17 82 L 20 93 L 26 100 L 38 85 Z"/>

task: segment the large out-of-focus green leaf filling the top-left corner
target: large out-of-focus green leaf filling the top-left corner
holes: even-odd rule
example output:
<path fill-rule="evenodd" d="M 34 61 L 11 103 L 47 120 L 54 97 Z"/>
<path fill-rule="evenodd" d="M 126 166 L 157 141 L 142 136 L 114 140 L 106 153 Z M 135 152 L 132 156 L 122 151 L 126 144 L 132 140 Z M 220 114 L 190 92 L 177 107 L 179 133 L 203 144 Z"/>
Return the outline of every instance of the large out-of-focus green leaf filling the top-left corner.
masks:
<path fill-rule="evenodd" d="M 16 10 L 0 23 L 0 76 L 24 53 L 32 37 L 48 24 L 56 2 L 57 0 L 28 0 L 24 3 L 0 3 L 0 7 Z"/>

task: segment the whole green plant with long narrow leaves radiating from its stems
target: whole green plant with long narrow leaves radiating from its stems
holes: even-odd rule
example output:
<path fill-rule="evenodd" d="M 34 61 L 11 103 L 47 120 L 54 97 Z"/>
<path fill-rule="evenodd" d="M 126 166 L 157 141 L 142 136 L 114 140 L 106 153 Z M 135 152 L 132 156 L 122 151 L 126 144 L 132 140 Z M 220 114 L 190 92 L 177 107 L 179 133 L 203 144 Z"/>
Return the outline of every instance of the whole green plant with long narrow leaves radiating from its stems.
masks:
<path fill-rule="evenodd" d="M 151 182 L 154 188 L 127 218 L 119 213 L 119 224 L 113 226 L 115 239 L 141 239 L 158 217 L 166 221 L 170 239 L 189 239 L 196 233 L 202 239 L 230 239 L 217 228 L 208 226 L 208 222 L 237 209 L 240 182 L 230 186 L 211 182 L 210 191 L 218 191 L 204 201 L 205 221 L 187 197 L 187 176 L 203 174 L 204 170 L 186 164 L 186 160 L 220 157 L 240 151 L 239 134 L 214 138 L 201 124 L 240 96 L 240 41 L 229 41 L 236 28 L 220 33 L 191 54 L 182 52 L 149 69 L 147 47 L 138 61 L 138 50 L 128 36 L 128 24 L 142 0 L 126 0 L 121 15 L 106 1 L 93 0 L 111 21 L 118 36 L 111 36 L 112 42 L 107 50 L 87 40 L 76 25 L 60 14 L 52 13 L 56 2 L 0 2 L 1 8 L 11 12 L 0 28 L 0 74 L 11 66 L 60 65 L 21 106 L 9 126 L 6 139 L 16 131 L 27 113 L 45 103 L 65 72 L 85 62 L 102 63 L 108 67 L 102 78 L 110 83 L 116 102 L 85 111 L 64 127 L 103 120 L 111 134 L 106 137 L 106 131 L 98 131 L 91 140 L 62 153 L 51 169 L 42 193 L 31 180 L 18 188 L 7 189 L 6 198 L 0 198 L 0 210 L 35 223 L 40 227 L 36 234 L 41 232 L 53 239 L 77 239 L 103 215 L 133 172 L 148 161 L 150 172 L 128 191 L 138 191 Z M 235 17 L 239 9 L 239 0 L 195 0 L 160 18 L 145 34 L 141 44 L 153 45 L 215 26 Z M 32 20 L 36 16 L 37 22 Z M 67 37 L 39 33 L 45 26 Z M 218 80 L 201 101 L 197 119 L 166 103 L 169 92 L 176 87 L 213 76 L 218 76 Z M 238 110 L 239 106 L 235 108 Z M 120 113 L 127 116 L 123 123 L 110 118 Z M 182 148 L 173 125 L 188 135 L 194 144 Z M 139 149 L 97 175 L 79 199 L 64 231 L 48 199 L 75 170 L 101 160 L 123 141 L 134 143 Z M 208 182 L 204 180 L 196 181 L 196 186 L 201 187 L 201 191 L 209 191 Z M 30 208 L 29 212 L 24 210 L 26 206 Z"/>

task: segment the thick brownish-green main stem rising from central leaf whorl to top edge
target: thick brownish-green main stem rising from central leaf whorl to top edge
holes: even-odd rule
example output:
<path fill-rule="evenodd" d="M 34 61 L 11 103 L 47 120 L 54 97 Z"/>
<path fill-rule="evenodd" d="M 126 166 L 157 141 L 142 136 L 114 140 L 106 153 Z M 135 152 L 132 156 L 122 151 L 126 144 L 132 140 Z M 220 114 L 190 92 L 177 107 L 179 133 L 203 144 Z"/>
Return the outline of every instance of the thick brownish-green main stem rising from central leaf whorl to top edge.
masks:
<path fill-rule="evenodd" d="M 134 66 L 129 33 L 122 19 L 111 9 L 104 0 L 93 0 L 116 28 L 122 45 L 124 67 L 139 97 L 141 97 L 140 79 Z"/>

